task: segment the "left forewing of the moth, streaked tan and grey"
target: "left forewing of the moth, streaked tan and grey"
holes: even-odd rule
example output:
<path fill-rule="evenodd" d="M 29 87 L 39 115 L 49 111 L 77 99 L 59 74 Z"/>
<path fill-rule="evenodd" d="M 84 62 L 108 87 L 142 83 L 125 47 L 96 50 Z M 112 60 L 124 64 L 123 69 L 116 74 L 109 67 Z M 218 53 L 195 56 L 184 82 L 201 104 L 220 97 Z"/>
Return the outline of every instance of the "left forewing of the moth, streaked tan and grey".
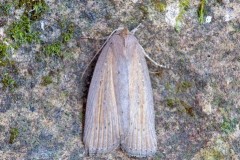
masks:
<path fill-rule="evenodd" d="M 108 153 L 120 145 L 120 120 L 114 90 L 112 39 L 97 61 L 87 98 L 84 143 L 91 154 Z"/>

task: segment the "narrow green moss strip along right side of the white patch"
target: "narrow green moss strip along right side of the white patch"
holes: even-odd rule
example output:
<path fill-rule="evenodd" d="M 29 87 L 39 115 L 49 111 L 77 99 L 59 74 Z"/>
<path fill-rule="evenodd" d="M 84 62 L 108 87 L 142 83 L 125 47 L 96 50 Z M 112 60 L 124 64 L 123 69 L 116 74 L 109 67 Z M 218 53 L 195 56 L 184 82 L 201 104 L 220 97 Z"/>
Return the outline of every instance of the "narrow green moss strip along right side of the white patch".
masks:
<path fill-rule="evenodd" d="M 183 15 L 185 14 L 185 12 L 189 8 L 189 6 L 190 6 L 190 0 L 180 0 L 179 1 L 180 11 L 179 11 L 179 14 L 176 18 L 176 24 L 175 24 L 175 30 L 177 32 L 180 32 L 180 30 L 181 30 L 181 23 L 182 23 L 182 20 L 183 20 Z"/>

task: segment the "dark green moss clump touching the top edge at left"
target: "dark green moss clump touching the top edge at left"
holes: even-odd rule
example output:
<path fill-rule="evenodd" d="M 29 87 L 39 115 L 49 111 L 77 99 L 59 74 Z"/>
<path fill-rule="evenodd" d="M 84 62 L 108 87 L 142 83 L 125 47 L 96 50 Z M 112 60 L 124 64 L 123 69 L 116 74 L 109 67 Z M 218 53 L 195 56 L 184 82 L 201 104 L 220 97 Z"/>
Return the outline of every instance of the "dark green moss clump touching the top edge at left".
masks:
<path fill-rule="evenodd" d="M 44 0 L 19 0 L 18 7 L 25 7 L 24 14 L 30 20 L 38 20 L 48 10 L 48 6 Z"/>

